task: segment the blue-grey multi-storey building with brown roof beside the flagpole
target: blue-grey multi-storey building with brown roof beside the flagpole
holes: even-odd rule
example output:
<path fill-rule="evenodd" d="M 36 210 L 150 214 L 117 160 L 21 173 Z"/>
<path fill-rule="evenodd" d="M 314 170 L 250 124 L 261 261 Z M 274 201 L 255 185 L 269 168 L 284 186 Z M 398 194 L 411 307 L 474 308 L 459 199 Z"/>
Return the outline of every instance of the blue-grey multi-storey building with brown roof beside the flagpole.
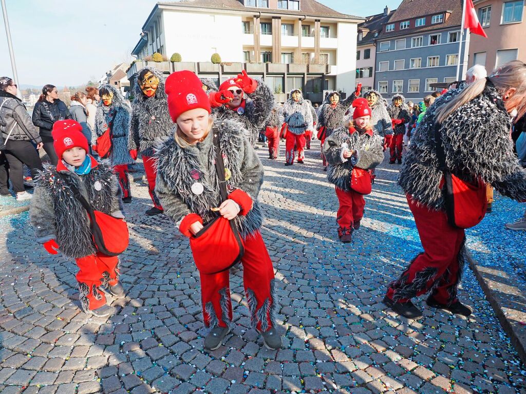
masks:
<path fill-rule="evenodd" d="M 463 79 L 469 34 L 460 42 L 463 0 L 403 0 L 376 40 L 375 85 L 389 98 L 421 100 L 431 84 Z M 468 50 L 467 50 L 468 49 Z"/>

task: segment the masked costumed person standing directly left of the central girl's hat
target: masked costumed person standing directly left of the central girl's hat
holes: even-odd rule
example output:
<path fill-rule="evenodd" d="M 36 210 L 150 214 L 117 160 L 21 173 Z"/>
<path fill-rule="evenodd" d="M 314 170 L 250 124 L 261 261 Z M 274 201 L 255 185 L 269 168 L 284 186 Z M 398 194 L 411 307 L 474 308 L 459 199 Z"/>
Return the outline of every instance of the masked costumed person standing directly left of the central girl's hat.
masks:
<path fill-rule="evenodd" d="M 148 192 L 154 204 L 146 215 L 154 216 L 163 213 L 163 206 L 155 194 L 157 165 L 154 147 L 170 135 L 173 123 L 168 113 L 163 73 L 154 67 L 147 67 L 140 70 L 135 78 L 129 146 L 132 150 L 139 150 L 143 157 Z"/>

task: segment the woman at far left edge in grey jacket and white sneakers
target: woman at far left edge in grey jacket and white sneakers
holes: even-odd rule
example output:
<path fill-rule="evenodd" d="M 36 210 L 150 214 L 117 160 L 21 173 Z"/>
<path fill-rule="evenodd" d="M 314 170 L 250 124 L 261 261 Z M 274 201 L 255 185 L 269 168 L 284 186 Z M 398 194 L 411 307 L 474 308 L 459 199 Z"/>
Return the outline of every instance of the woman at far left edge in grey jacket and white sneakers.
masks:
<path fill-rule="evenodd" d="M 24 164 L 34 178 L 36 171 L 42 169 L 37 149 L 42 148 L 43 144 L 26 107 L 16 96 L 16 90 L 13 79 L 0 77 L 0 143 L 4 145 L 0 158 L 3 161 L 0 194 L 11 196 L 8 183 L 11 179 L 16 199 L 23 201 L 32 197 L 24 188 Z"/>

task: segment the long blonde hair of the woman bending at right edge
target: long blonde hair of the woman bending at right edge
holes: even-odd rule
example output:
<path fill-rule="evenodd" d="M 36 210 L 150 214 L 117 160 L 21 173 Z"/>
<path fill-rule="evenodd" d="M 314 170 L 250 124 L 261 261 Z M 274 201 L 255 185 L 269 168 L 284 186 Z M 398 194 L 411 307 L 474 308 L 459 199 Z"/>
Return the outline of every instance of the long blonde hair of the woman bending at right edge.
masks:
<path fill-rule="evenodd" d="M 517 89 L 510 100 L 513 100 L 513 103 L 518 103 L 515 106 L 517 109 L 515 120 L 520 119 L 526 113 L 526 64 L 520 60 L 512 60 L 491 73 L 488 79 L 495 85 L 500 94 L 503 94 L 509 88 Z M 435 117 L 436 122 L 439 124 L 443 123 L 454 110 L 480 95 L 486 82 L 486 78 L 477 79 L 471 85 L 462 89 L 458 95 L 438 107 Z"/>

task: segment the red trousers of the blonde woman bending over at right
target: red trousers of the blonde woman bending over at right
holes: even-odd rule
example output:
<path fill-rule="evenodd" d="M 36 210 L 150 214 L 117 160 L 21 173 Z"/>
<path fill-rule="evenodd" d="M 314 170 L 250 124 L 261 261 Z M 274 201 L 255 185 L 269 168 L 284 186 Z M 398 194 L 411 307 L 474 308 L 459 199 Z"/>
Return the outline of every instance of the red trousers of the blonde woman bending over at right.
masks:
<path fill-rule="evenodd" d="M 446 213 L 417 205 L 407 198 L 424 252 L 411 262 L 397 280 L 389 284 L 387 297 L 406 302 L 428 291 L 443 305 L 457 300 L 457 287 L 464 265 L 464 230 L 451 227 Z"/>

